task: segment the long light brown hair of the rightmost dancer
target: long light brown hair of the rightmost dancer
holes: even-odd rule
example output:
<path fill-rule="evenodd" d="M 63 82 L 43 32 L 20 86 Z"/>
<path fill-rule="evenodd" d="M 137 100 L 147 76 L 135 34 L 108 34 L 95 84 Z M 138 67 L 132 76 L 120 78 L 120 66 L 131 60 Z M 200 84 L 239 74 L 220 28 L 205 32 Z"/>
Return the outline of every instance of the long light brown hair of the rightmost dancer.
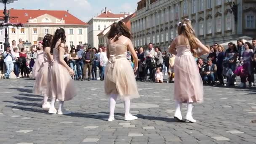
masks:
<path fill-rule="evenodd" d="M 195 30 L 192 28 L 191 22 L 188 19 L 183 19 L 178 25 L 178 34 L 187 37 L 191 49 L 191 53 L 196 56 L 198 52 L 197 39 Z"/>

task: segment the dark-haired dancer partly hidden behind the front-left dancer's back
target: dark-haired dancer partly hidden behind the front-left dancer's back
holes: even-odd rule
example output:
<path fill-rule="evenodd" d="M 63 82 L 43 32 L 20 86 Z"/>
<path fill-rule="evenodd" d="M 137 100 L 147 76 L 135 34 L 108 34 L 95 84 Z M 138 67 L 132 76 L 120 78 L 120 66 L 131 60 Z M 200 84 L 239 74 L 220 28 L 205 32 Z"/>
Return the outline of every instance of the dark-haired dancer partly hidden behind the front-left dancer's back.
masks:
<path fill-rule="evenodd" d="M 33 93 L 36 95 L 43 96 L 43 109 L 49 109 L 51 107 L 48 102 L 48 64 L 53 59 L 53 56 L 50 53 L 51 50 L 51 40 L 53 35 L 47 34 L 43 38 L 43 59 L 44 62 L 41 64 L 40 69 L 38 70 L 37 78 L 34 83 Z"/>

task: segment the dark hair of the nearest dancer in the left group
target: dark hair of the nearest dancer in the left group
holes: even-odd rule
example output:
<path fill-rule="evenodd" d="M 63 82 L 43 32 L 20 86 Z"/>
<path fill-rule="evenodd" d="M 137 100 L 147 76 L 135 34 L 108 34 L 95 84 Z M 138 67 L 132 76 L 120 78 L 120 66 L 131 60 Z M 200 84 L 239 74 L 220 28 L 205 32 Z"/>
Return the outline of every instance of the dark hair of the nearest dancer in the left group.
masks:
<path fill-rule="evenodd" d="M 51 54 L 53 54 L 53 48 L 55 48 L 55 45 L 59 41 L 59 39 L 61 39 L 61 43 L 66 43 L 65 30 L 61 27 L 56 29 L 56 32 L 54 33 L 51 43 Z"/>

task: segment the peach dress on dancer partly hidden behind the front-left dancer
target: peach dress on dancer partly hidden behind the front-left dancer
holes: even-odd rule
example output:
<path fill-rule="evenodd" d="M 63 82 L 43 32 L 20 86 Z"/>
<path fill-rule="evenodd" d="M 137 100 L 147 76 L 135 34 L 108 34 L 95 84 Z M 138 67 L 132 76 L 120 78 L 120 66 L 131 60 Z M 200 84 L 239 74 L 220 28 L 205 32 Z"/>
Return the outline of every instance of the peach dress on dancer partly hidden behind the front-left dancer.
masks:
<path fill-rule="evenodd" d="M 44 62 L 41 64 L 37 78 L 34 83 L 33 93 L 41 96 L 47 95 L 47 85 L 48 85 L 48 64 L 50 58 L 48 58 L 46 53 L 43 53 Z"/>

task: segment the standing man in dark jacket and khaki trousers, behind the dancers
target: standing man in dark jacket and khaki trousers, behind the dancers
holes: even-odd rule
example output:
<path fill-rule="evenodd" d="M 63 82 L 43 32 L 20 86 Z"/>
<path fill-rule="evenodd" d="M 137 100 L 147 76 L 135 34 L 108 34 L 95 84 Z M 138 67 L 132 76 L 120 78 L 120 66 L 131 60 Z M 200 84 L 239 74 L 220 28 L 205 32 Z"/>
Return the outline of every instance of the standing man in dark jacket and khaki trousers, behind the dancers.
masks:
<path fill-rule="evenodd" d="M 83 67 L 83 76 L 85 80 L 86 77 L 86 70 L 88 68 L 88 81 L 91 80 L 91 69 L 93 67 L 94 63 L 94 53 L 91 49 L 91 45 L 88 45 L 87 51 L 83 53 L 83 62 L 84 62 L 84 67 Z"/>

